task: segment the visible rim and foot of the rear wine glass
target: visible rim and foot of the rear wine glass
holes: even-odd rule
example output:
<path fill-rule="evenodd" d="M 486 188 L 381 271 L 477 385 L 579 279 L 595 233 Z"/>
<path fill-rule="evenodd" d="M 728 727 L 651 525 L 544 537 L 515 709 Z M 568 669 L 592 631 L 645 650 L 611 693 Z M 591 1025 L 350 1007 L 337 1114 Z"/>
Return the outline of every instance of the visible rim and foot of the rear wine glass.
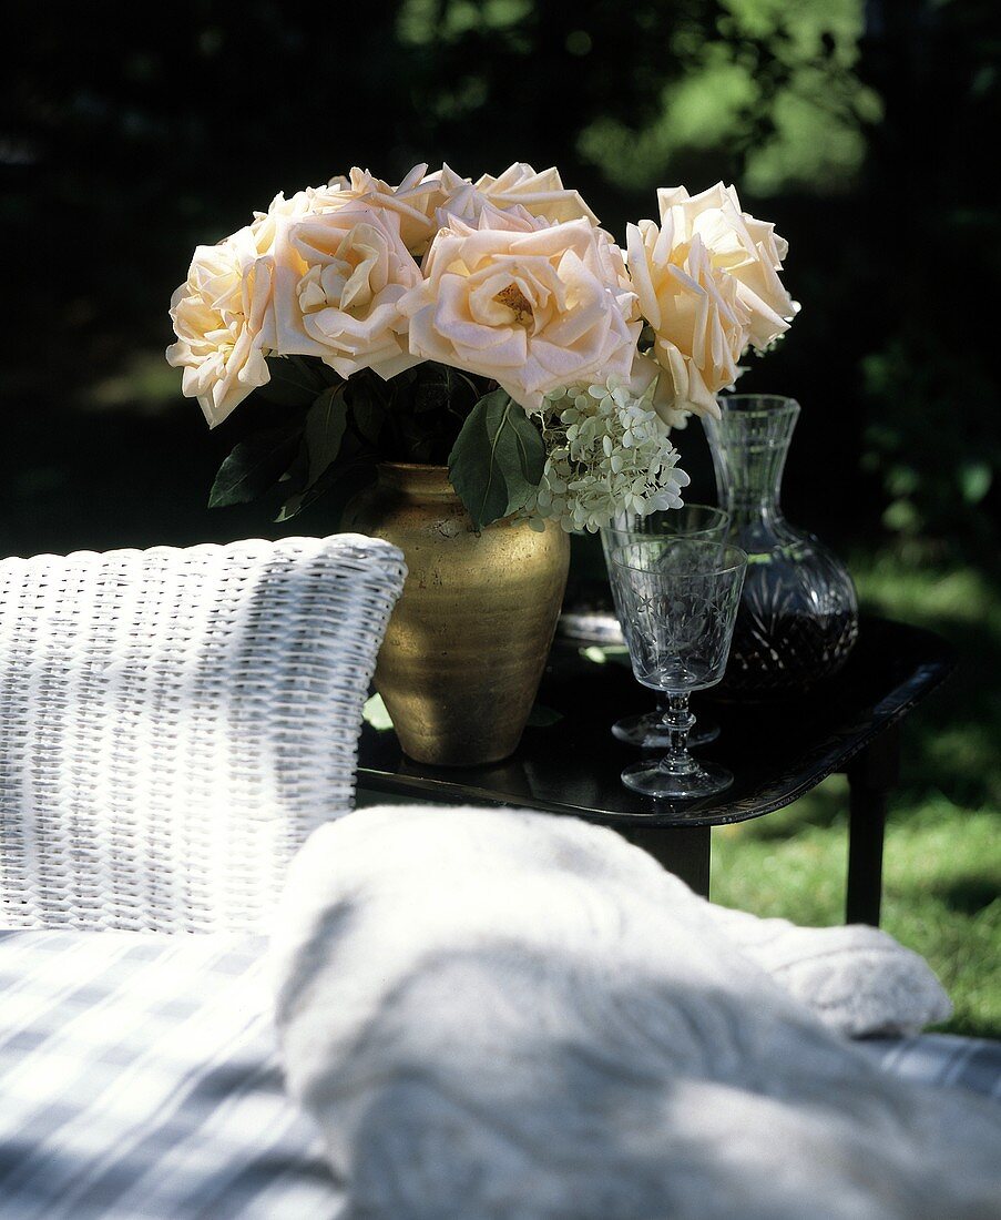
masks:
<path fill-rule="evenodd" d="M 640 542 L 643 538 L 708 538 L 722 542 L 730 526 L 730 515 L 711 504 L 685 504 L 680 509 L 668 509 L 663 512 L 651 512 L 639 516 L 635 512 L 621 512 L 601 531 L 601 547 L 605 551 L 605 564 L 608 565 L 610 549 L 628 542 Z M 664 727 L 663 716 L 667 711 L 667 695 L 658 693 L 657 706 L 652 711 L 634 712 L 623 716 L 612 725 L 612 736 L 627 745 L 640 749 L 663 749 L 671 744 L 671 736 Z M 700 719 L 697 728 L 689 736 L 689 745 L 708 745 L 719 736 L 719 726 L 714 721 Z"/>

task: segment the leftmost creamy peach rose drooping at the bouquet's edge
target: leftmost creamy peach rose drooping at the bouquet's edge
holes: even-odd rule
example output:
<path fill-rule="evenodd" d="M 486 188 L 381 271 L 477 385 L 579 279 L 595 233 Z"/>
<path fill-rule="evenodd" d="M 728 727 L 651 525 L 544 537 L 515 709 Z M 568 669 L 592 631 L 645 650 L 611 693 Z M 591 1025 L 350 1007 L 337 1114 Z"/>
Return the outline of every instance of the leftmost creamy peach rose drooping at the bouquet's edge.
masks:
<path fill-rule="evenodd" d="M 182 392 L 198 398 L 210 427 L 271 379 L 263 327 L 273 270 L 248 226 L 217 245 L 198 246 L 188 279 L 171 299 L 177 343 L 167 348 L 167 362 L 184 370 Z"/>

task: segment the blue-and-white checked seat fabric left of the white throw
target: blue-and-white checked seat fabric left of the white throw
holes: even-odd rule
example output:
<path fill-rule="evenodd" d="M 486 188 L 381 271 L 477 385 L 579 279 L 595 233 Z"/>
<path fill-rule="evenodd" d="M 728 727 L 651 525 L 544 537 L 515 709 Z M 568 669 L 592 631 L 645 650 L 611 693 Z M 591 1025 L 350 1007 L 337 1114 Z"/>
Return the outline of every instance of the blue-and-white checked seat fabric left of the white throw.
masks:
<path fill-rule="evenodd" d="M 260 939 L 0 932 L 2 1220 L 333 1220 Z"/>

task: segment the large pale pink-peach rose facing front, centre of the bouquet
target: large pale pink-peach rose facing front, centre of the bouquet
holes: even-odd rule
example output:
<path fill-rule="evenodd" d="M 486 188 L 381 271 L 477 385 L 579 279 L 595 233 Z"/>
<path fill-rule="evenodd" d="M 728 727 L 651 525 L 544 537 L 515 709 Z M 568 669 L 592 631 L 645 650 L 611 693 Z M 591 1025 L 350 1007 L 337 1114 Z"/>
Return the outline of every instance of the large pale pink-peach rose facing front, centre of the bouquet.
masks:
<path fill-rule="evenodd" d="M 634 296 L 607 270 L 586 220 L 546 224 L 484 207 L 478 227 L 450 217 L 424 281 L 400 301 L 410 349 L 494 378 L 525 410 L 557 386 L 628 375 Z"/>

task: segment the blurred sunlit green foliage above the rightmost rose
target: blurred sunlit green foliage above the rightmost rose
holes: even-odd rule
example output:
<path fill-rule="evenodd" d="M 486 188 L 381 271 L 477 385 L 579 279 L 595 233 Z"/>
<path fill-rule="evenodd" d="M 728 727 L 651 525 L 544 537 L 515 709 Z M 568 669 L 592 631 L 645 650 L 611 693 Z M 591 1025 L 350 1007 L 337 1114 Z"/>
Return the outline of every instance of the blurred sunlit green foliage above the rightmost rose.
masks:
<path fill-rule="evenodd" d="M 721 150 L 740 159 L 740 185 L 768 198 L 841 194 L 866 156 L 864 124 L 883 113 L 857 72 L 857 0 L 724 0 L 712 24 L 691 11 L 667 38 L 672 79 L 643 123 L 602 117 L 579 137 L 584 155 L 632 187 L 662 185 L 666 168 Z"/>

